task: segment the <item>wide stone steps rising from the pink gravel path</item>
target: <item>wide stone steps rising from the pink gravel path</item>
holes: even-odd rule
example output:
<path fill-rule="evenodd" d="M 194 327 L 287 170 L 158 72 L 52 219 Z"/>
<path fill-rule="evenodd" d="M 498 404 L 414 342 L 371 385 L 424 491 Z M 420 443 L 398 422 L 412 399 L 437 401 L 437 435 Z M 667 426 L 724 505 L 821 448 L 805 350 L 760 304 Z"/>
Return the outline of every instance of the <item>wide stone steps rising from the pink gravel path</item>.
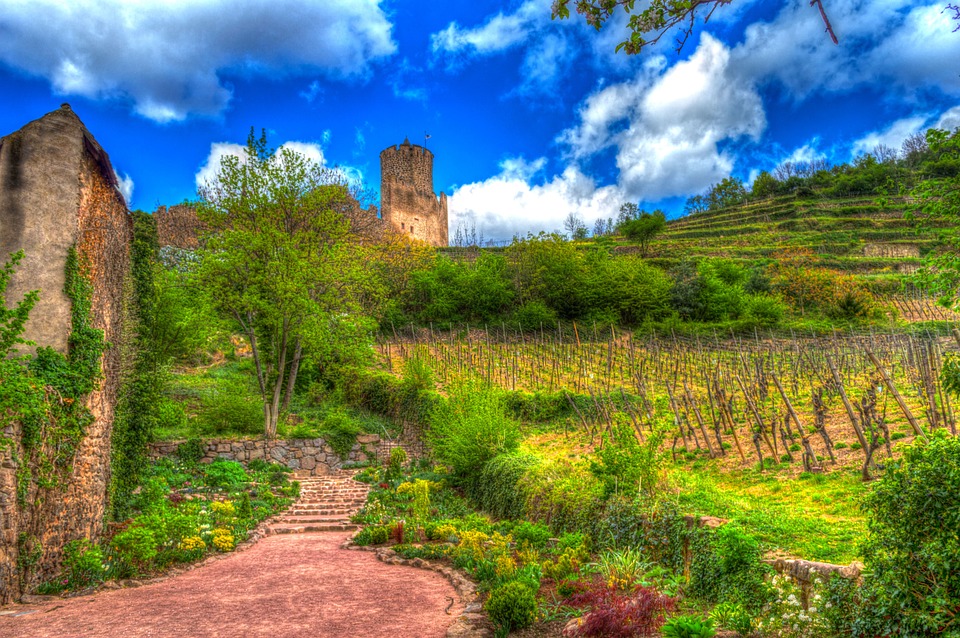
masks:
<path fill-rule="evenodd" d="M 273 519 L 271 534 L 346 532 L 357 529 L 350 522 L 367 501 L 370 486 L 353 480 L 355 472 L 340 470 L 326 476 L 300 480 L 300 498 Z"/>

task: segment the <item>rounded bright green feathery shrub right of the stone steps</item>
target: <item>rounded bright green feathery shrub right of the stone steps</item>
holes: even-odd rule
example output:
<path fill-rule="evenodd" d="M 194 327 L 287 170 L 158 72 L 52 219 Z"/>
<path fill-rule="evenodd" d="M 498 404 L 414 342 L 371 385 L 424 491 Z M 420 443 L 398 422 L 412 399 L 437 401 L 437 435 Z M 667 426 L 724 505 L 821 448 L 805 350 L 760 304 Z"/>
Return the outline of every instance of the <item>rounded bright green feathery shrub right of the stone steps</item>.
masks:
<path fill-rule="evenodd" d="M 500 395 L 471 383 L 451 389 L 449 399 L 437 403 L 426 436 L 436 458 L 462 484 L 476 481 L 487 461 L 520 442 L 518 425 L 504 414 Z"/>

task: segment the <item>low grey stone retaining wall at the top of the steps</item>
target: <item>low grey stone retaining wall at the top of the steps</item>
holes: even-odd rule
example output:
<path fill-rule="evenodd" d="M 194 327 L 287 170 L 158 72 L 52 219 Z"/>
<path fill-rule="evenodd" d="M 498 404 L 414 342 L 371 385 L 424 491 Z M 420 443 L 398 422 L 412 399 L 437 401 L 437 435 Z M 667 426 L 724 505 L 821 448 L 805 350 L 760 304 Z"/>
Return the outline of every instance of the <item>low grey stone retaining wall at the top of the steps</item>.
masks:
<path fill-rule="evenodd" d="M 149 455 L 153 459 L 173 456 L 183 441 L 153 443 Z M 210 463 L 214 459 L 229 459 L 248 463 L 254 459 L 263 459 L 282 463 L 294 471 L 310 476 L 322 476 L 336 472 L 344 463 L 362 463 L 375 459 L 385 460 L 390 450 L 399 444 L 389 439 L 383 440 L 377 434 L 361 434 L 347 455 L 341 459 L 333 448 L 323 439 L 289 439 L 266 441 L 264 439 L 225 440 L 210 439 L 203 442 L 205 453 L 201 463 Z"/>

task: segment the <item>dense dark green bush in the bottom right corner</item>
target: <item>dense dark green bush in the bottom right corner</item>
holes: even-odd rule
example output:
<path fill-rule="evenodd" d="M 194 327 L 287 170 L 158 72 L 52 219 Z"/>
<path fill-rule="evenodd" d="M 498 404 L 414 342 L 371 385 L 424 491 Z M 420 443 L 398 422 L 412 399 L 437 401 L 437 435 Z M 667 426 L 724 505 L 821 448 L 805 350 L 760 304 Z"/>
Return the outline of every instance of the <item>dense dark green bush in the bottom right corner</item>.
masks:
<path fill-rule="evenodd" d="M 867 495 L 866 597 L 885 635 L 956 630 L 960 609 L 960 439 L 917 439 Z"/>

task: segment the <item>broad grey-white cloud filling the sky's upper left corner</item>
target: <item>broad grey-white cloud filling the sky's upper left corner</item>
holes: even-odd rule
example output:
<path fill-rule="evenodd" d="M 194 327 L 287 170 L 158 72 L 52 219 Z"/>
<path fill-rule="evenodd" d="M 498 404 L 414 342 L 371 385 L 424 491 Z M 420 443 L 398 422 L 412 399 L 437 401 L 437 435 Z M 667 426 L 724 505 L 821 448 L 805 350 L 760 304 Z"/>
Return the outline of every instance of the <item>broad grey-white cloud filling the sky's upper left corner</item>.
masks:
<path fill-rule="evenodd" d="M 396 50 L 379 3 L 14 0 L 0 4 L 0 62 L 158 122 L 216 115 L 231 98 L 225 72 L 365 77 Z"/>

